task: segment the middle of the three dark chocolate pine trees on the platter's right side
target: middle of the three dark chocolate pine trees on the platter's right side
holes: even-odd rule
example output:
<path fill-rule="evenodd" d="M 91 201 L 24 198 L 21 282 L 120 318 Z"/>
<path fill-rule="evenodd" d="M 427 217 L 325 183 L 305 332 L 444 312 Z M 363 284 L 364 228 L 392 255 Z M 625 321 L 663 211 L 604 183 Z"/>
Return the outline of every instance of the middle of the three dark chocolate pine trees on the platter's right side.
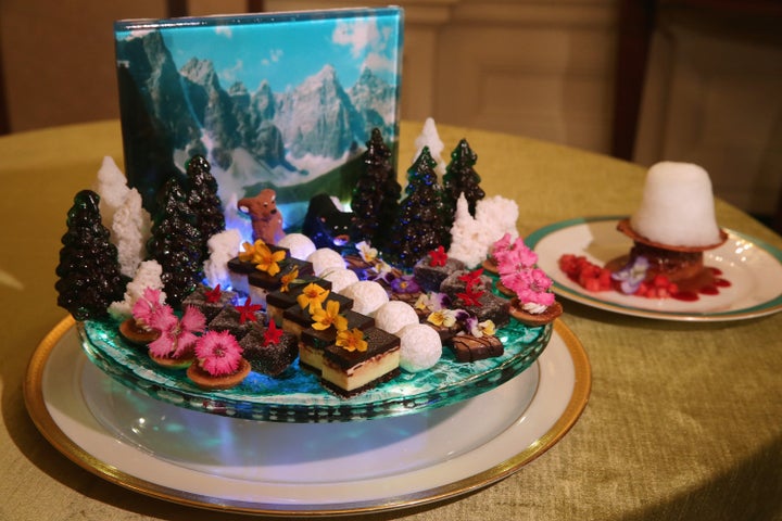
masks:
<path fill-rule="evenodd" d="M 389 253 L 401 266 L 411 268 L 418 259 L 442 245 L 450 229 L 443 218 L 442 188 L 437 163 L 424 147 L 407 170 L 406 196 L 400 203 L 390 233 Z"/>

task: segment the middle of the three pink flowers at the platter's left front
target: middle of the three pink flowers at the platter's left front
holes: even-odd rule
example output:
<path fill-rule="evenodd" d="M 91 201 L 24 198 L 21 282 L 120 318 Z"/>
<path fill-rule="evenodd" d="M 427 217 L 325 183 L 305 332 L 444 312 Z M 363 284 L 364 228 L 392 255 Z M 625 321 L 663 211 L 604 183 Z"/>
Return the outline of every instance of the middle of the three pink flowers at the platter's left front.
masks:
<path fill-rule="evenodd" d="M 150 342 L 150 353 L 157 357 L 179 358 L 192 348 L 197 333 L 206 328 L 206 318 L 192 306 L 186 306 L 182 318 L 174 315 L 171 306 L 161 306 L 150 317 L 149 326 L 161 332 L 157 340 Z"/>

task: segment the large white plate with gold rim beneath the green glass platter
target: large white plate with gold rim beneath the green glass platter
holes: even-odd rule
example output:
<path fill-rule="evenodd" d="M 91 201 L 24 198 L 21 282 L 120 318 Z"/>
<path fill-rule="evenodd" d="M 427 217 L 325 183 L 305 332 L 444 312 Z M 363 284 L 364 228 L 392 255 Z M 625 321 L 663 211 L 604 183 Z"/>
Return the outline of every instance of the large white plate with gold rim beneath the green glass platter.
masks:
<path fill-rule="evenodd" d="M 89 361 L 67 318 L 36 350 L 25 399 L 58 450 L 112 483 L 187 506 L 313 516 L 399 509 L 500 481 L 569 431 L 590 389 L 586 354 L 557 320 L 528 370 L 452 406 L 354 422 L 243 420 L 118 383 Z"/>

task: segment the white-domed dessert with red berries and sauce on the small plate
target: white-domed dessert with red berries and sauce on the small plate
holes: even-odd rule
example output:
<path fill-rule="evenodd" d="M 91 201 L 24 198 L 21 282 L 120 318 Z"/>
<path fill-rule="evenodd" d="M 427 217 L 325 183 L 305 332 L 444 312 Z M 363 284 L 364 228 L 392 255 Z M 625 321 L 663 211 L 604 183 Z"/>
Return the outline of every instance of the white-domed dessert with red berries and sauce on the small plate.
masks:
<path fill-rule="evenodd" d="M 661 162 L 646 175 L 635 213 L 617 229 L 633 241 L 628 254 L 605 266 L 566 254 L 560 269 L 588 291 L 619 291 L 649 298 L 695 301 L 730 281 L 704 265 L 704 252 L 728 238 L 715 218 L 708 173 L 690 163 Z"/>

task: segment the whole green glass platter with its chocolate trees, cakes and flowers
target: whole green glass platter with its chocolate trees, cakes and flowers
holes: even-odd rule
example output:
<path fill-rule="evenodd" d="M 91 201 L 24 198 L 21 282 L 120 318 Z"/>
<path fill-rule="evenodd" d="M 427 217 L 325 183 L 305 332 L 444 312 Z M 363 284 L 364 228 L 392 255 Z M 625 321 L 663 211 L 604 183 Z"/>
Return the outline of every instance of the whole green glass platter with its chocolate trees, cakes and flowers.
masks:
<path fill-rule="evenodd" d="M 320 421 L 313 410 L 324 407 L 328 418 L 399 414 L 443 386 L 443 403 L 471 396 L 476 382 L 499 384 L 534 361 L 562 314 L 515 232 L 515 203 L 484 198 L 476 161 L 462 140 L 441 187 L 424 145 L 400 199 L 374 131 L 350 209 L 317 195 L 302 230 L 285 230 L 265 188 L 234 199 L 252 224 L 241 237 L 217 218 L 225 208 L 197 155 L 187 182 L 162 187 L 147 251 L 124 271 L 101 196 L 80 192 L 63 237 L 59 303 L 79 320 L 96 365 L 184 407 Z M 480 267 L 490 253 L 496 274 Z M 92 256 L 100 265 L 81 269 Z"/>

